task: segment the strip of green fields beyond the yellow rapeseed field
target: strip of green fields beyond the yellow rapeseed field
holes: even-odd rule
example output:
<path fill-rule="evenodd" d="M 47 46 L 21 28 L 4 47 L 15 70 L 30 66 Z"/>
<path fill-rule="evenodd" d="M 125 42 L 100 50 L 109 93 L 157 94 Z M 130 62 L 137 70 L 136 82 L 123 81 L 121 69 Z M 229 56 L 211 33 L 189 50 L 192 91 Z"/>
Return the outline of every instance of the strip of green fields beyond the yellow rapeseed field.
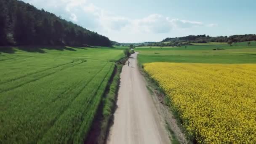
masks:
<path fill-rule="evenodd" d="M 221 48 L 223 50 L 214 51 Z M 235 45 L 187 45 L 174 48 L 140 48 L 139 61 L 149 62 L 189 62 L 189 63 L 256 63 L 256 42 Z"/>

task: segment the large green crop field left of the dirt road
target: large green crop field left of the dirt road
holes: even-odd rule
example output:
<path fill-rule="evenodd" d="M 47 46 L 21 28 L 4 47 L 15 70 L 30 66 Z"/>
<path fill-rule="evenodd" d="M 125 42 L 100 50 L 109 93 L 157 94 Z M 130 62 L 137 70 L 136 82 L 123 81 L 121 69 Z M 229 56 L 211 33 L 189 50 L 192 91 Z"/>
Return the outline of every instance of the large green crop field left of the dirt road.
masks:
<path fill-rule="evenodd" d="M 2 48 L 0 143 L 83 142 L 122 57 L 122 48 Z"/>

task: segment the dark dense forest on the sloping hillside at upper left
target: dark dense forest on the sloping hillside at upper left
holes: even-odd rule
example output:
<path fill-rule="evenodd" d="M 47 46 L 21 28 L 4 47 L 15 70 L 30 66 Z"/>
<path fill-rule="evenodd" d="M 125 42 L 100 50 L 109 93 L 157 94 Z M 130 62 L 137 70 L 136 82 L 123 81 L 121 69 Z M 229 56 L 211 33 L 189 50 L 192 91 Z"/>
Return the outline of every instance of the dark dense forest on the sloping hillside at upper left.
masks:
<path fill-rule="evenodd" d="M 0 45 L 99 45 L 108 37 L 18 0 L 0 0 Z"/>

